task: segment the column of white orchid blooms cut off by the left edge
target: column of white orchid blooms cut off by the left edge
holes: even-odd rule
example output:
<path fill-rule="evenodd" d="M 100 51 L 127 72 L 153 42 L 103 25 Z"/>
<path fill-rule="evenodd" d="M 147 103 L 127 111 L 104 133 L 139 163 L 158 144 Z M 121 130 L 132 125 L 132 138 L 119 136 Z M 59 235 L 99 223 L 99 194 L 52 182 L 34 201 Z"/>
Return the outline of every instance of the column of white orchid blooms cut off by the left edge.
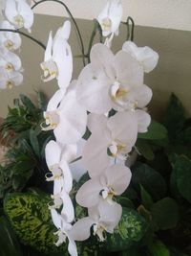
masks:
<path fill-rule="evenodd" d="M 16 30 L 25 28 L 30 31 L 33 23 L 33 12 L 27 0 L 5 0 L 3 3 L 5 20 L 0 29 Z M 12 88 L 22 83 L 22 64 L 14 53 L 21 46 L 21 37 L 12 32 L 1 32 L 0 35 L 0 88 Z"/>

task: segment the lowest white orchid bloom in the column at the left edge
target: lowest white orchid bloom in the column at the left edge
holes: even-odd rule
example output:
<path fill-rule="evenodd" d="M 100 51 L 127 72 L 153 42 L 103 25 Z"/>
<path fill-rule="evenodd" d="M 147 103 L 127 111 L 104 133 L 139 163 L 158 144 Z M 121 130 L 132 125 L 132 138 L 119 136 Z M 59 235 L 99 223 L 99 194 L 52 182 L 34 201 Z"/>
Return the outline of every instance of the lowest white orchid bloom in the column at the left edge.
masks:
<path fill-rule="evenodd" d="M 11 89 L 18 86 L 23 81 L 23 75 L 18 71 L 8 72 L 4 67 L 0 67 L 0 88 Z"/>

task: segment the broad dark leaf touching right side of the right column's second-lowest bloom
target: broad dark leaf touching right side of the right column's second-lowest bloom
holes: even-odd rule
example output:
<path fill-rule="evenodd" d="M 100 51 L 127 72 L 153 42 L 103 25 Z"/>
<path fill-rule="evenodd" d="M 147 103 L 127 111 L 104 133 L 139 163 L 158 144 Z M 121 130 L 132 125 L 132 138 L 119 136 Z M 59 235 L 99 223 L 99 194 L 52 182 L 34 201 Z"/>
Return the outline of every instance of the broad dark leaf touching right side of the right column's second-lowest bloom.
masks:
<path fill-rule="evenodd" d="M 141 184 L 154 200 L 163 198 L 166 193 L 166 183 L 163 177 L 146 164 L 137 162 L 133 167 L 132 181 L 138 189 Z"/>

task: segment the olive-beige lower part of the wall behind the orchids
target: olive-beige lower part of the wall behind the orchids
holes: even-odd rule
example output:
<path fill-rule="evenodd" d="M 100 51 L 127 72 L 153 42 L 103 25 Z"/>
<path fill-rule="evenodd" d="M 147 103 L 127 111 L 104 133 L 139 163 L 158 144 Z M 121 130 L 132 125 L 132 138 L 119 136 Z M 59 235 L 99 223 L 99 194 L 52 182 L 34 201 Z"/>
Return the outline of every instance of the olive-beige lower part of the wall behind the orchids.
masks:
<path fill-rule="evenodd" d="M 50 30 L 56 30 L 63 22 L 61 17 L 36 15 L 32 35 L 46 42 Z M 77 20 L 84 42 L 88 39 L 93 28 L 91 21 Z M 114 42 L 115 50 L 119 49 L 125 39 L 126 29 L 121 27 L 120 36 Z M 135 41 L 139 46 L 148 45 L 159 52 L 159 65 L 145 77 L 145 83 L 153 88 L 154 97 L 150 111 L 154 117 L 160 117 L 171 92 L 175 92 L 191 115 L 191 32 L 159 29 L 137 26 Z M 74 56 L 80 54 L 76 36 L 70 38 Z M 86 47 L 87 49 L 87 47 Z M 21 58 L 25 69 L 23 85 L 12 90 L 0 91 L 0 116 L 7 113 L 7 105 L 11 105 L 13 98 L 19 93 L 34 96 L 34 90 L 40 89 L 49 97 L 56 89 L 56 82 L 43 83 L 39 63 L 43 59 L 44 51 L 29 39 L 23 39 Z M 80 58 L 74 58 L 74 78 L 82 67 Z"/>

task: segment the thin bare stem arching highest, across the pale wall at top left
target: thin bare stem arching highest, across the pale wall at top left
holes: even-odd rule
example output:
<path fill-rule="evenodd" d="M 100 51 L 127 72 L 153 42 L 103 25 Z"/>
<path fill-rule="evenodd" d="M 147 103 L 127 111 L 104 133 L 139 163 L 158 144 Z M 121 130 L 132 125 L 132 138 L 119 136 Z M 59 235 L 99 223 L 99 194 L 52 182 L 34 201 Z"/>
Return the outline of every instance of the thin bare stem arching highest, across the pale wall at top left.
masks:
<path fill-rule="evenodd" d="M 64 4 L 63 2 L 61 2 L 61 1 L 59 1 L 59 0 L 40 0 L 40 1 L 38 1 L 38 2 L 34 1 L 34 5 L 32 6 L 32 10 L 33 10 L 36 6 L 38 6 L 38 5 L 40 5 L 40 4 L 44 3 L 44 2 L 55 2 L 55 3 L 58 3 L 58 4 L 62 5 L 62 6 L 65 8 L 66 12 L 68 12 L 69 16 L 71 17 L 71 19 L 72 19 L 73 22 L 74 22 L 74 27 L 75 27 L 76 32 L 77 32 L 77 35 L 78 35 L 78 37 L 79 37 L 80 46 L 81 46 L 81 53 L 82 53 L 83 65 L 85 66 L 85 65 L 86 65 L 86 61 L 85 61 L 84 44 L 83 44 L 82 36 L 81 36 L 81 34 L 80 34 L 79 28 L 78 28 L 78 26 L 77 26 L 77 23 L 76 23 L 76 21 L 75 21 L 75 19 L 74 19 L 74 16 L 73 16 L 72 12 L 69 10 L 69 8 L 67 7 L 66 4 Z"/>

